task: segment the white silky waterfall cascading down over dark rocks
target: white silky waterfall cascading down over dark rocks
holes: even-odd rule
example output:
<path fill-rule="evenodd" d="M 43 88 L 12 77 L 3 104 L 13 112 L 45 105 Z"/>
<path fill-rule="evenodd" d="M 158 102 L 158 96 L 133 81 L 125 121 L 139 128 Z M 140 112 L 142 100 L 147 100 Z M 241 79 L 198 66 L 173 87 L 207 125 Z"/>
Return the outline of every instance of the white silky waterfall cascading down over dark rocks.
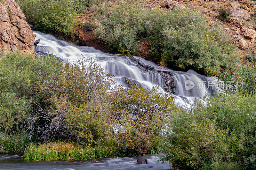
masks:
<path fill-rule="evenodd" d="M 36 39 L 41 42 L 34 47 L 35 52 L 44 52 L 58 57 L 75 60 L 81 55 L 95 57 L 108 73 L 115 76 L 117 82 L 127 86 L 127 80 L 132 84 L 151 88 L 159 86 L 159 92 L 174 93 L 176 102 L 181 105 L 191 104 L 195 98 L 202 97 L 205 93 L 216 92 L 216 79 L 197 74 L 193 70 L 174 71 L 160 67 L 153 62 L 141 57 L 126 57 L 103 53 L 87 46 L 76 46 L 66 41 L 61 41 L 52 35 L 34 31 Z"/>

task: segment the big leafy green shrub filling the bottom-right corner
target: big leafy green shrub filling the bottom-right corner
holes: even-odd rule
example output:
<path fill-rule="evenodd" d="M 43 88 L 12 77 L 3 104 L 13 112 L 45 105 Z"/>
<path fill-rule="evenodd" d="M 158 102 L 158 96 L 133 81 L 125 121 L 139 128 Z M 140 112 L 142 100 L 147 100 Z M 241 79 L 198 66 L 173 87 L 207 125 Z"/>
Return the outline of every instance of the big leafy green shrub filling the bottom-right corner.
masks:
<path fill-rule="evenodd" d="M 197 169 L 234 163 L 254 169 L 256 95 L 219 94 L 168 117 L 163 150 L 173 167 Z M 235 106 L 235 107 L 234 107 Z M 221 163 L 221 164 L 220 164 Z"/>

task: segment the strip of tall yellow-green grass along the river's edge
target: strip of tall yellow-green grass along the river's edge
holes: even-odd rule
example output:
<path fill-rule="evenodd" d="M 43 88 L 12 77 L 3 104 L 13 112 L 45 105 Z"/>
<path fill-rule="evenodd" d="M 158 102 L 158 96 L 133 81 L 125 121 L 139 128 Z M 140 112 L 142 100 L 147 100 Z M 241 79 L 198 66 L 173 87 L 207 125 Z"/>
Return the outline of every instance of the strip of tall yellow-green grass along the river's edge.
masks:
<path fill-rule="evenodd" d="M 24 158 L 30 160 L 84 160 L 104 157 L 118 157 L 115 147 L 83 147 L 72 143 L 31 144 L 24 152 Z"/>

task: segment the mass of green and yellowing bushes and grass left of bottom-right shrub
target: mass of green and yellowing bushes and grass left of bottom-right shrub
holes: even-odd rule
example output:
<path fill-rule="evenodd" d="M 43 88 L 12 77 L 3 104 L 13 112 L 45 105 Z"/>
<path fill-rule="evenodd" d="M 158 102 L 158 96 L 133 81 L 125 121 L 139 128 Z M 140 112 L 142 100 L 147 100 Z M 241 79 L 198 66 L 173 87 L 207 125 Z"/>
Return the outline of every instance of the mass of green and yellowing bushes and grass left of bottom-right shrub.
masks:
<path fill-rule="evenodd" d="M 103 156 L 156 152 L 164 119 L 176 108 L 173 97 L 157 88 L 118 87 L 85 57 L 61 63 L 49 56 L 1 53 L 0 79 L 1 152 L 27 147 L 28 159 L 41 160 L 47 153 L 40 148 L 52 141 L 75 150 L 54 159 L 75 159 L 78 153 L 79 159 L 91 158 L 97 148 Z M 33 155 L 37 152 L 41 155 Z"/>

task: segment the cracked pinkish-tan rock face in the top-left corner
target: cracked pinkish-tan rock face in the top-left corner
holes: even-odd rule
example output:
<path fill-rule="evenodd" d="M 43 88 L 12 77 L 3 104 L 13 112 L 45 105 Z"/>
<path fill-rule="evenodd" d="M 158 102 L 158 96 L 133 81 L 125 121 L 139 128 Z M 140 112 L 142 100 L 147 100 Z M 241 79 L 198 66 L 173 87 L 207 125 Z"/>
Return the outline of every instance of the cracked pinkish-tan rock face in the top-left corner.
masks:
<path fill-rule="evenodd" d="M 0 1 L 0 49 L 34 53 L 35 34 L 14 0 Z"/>

